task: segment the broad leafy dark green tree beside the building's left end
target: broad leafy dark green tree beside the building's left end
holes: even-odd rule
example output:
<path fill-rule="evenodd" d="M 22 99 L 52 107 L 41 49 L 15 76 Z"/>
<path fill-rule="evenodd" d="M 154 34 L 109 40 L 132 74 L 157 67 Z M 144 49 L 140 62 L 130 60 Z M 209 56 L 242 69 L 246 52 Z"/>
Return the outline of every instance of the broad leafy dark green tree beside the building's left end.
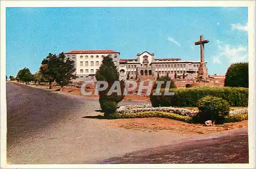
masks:
<path fill-rule="evenodd" d="M 65 58 L 63 52 L 59 55 L 49 53 L 48 56 L 42 60 L 40 70 L 42 78 L 47 78 L 50 82 L 50 89 L 52 82 L 56 81 L 58 85 L 68 85 L 71 79 L 77 78 L 75 72 L 75 62 L 69 58 Z"/>

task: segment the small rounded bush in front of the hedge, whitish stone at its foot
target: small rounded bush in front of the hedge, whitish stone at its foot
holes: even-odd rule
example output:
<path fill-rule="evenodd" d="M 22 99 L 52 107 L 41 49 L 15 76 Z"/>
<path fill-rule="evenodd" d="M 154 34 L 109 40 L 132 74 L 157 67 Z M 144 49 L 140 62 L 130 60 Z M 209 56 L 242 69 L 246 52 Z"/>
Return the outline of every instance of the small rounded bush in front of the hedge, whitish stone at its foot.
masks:
<path fill-rule="evenodd" d="M 224 117 L 229 112 L 229 104 L 222 98 L 206 96 L 198 101 L 198 109 L 197 117 L 200 123 L 211 120 L 215 121 L 216 124 L 223 124 Z"/>

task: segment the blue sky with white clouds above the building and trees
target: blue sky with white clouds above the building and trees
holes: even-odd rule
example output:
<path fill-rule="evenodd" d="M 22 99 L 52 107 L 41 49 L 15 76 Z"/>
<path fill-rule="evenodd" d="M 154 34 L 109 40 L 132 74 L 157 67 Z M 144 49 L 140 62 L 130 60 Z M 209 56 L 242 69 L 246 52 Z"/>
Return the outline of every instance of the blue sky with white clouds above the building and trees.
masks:
<path fill-rule="evenodd" d="M 248 61 L 247 8 L 7 8 L 7 76 L 32 73 L 50 52 L 113 49 L 121 59 L 148 51 L 156 58 L 199 61 L 204 35 L 209 74 Z"/>

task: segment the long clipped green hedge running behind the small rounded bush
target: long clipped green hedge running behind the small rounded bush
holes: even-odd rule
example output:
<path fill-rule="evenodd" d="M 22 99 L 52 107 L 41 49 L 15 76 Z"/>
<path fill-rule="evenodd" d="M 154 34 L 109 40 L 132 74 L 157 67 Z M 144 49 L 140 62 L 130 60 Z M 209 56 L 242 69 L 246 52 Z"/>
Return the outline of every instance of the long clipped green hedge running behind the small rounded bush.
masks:
<path fill-rule="evenodd" d="M 248 106 L 248 88 L 198 87 L 170 89 L 170 92 L 175 92 L 173 96 L 163 96 L 164 90 L 161 91 L 161 96 L 150 96 L 152 106 L 197 107 L 198 100 L 208 95 L 227 100 L 229 105 L 233 107 Z"/>

